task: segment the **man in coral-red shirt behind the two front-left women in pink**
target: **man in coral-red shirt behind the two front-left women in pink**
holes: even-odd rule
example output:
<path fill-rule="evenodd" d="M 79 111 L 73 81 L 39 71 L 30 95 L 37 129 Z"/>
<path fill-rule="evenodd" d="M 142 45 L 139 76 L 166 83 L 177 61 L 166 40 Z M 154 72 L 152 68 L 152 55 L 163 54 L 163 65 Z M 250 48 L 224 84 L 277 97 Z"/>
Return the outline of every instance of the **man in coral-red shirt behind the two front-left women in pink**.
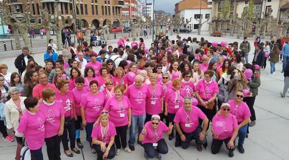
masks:
<path fill-rule="evenodd" d="M 48 83 L 48 77 L 45 73 L 40 73 L 38 76 L 39 84 L 37 84 L 33 88 L 32 95 L 37 99 L 42 98 L 42 90 L 45 88 L 52 88 L 53 90 L 57 91 L 55 85 Z"/>

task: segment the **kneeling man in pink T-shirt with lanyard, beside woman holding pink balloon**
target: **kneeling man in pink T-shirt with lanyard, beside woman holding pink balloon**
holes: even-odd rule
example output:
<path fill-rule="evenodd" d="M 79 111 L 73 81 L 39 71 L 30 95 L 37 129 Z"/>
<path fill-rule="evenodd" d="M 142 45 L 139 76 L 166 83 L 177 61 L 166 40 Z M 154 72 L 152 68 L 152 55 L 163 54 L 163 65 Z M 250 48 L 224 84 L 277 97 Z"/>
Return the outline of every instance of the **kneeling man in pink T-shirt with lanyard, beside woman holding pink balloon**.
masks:
<path fill-rule="evenodd" d="M 203 128 L 199 125 L 199 118 L 204 120 Z M 197 149 L 202 151 L 202 145 L 207 143 L 206 130 L 209 119 L 200 108 L 192 106 L 190 97 L 184 98 L 183 107 L 178 109 L 173 121 L 178 132 L 175 145 L 181 145 L 183 149 L 186 149 L 189 146 L 189 142 L 195 139 Z"/>

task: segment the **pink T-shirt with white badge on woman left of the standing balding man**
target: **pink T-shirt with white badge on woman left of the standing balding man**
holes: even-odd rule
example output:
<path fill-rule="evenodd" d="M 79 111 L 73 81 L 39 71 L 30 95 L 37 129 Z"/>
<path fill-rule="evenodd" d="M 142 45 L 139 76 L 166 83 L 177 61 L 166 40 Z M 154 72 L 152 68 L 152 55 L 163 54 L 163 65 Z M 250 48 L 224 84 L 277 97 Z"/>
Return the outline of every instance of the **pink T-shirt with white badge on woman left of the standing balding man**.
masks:
<path fill-rule="evenodd" d="M 105 109 L 110 111 L 110 121 L 115 126 L 124 126 L 129 122 L 128 109 L 131 108 L 129 98 L 123 95 L 121 100 L 117 100 L 116 96 L 108 99 Z"/>

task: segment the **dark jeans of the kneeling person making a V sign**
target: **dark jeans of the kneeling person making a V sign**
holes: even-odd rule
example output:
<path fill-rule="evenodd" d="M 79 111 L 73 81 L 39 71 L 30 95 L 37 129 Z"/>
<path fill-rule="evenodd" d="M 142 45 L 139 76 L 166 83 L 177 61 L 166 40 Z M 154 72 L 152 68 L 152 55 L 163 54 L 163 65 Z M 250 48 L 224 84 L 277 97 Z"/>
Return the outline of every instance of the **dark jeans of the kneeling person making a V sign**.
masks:
<path fill-rule="evenodd" d="M 145 153 L 149 158 L 153 158 L 156 156 L 155 147 L 152 143 L 144 143 L 143 147 L 145 149 Z M 159 139 L 159 141 L 157 142 L 157 149 L 158 152 L 161 154 L 166 154 L 168 152 L 168 147 L 164 138 Z"/>

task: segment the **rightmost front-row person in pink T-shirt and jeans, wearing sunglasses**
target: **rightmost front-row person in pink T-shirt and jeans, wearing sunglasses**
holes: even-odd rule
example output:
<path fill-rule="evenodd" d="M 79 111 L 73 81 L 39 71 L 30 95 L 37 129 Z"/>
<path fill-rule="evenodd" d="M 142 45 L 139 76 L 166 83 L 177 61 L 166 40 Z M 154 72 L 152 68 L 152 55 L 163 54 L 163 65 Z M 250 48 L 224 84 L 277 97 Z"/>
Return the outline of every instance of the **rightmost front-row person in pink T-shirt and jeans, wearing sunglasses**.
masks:
<path fill-rule="evenodd" d="M 243 147 L 244 140 L 246 138 L 248 123 L 250 120 L 251 112 L 248 105 L 243 101 L 244 92 L 238 90 L 235 93 L 235 99 L 229 100 L 228 103 L 231 105 L 230 113 L 236 116 L 238 126 L 239 126 L 239 141 L 238 150 L 240 153 L 244 153 L 245 149 Z"/>

